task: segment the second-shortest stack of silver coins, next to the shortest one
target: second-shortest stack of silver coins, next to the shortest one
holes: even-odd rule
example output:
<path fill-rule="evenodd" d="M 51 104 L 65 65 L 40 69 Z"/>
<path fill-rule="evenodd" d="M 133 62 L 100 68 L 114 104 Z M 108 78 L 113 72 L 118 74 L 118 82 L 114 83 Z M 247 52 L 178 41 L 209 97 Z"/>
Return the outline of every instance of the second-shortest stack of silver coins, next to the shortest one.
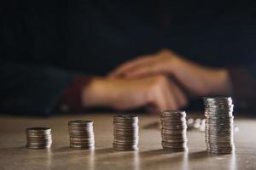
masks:
<path fill-rule="evenodd" d="M 68 122 L 70 147 L 78 150 L 92 150 L 95 148 L 93 122 L 70 121 Z"/>

